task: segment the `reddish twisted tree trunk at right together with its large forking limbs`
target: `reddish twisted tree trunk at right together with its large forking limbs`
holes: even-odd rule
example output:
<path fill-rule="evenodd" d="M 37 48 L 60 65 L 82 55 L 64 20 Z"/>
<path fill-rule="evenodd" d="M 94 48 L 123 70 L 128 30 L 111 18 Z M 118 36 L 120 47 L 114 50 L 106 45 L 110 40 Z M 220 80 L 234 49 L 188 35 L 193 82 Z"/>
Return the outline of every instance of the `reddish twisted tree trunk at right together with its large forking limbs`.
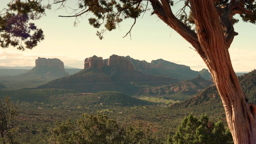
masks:
<path fill-rule="evenodd" d="M 154 12 L 197 50 L 208 66 L 226 112 L 228 127 L 235 144 L 256 144 L 256 115 L 232 68 L 228 48 L 234 32 L 232 16 L 241 11 L 235 1 L 226 8 L 216 8 L 213 0 L 190 0 L 196 33 L 172 13 L 168 0 L 150 0 Z M 234 8 L 236 8 L 234 10 Z"/>

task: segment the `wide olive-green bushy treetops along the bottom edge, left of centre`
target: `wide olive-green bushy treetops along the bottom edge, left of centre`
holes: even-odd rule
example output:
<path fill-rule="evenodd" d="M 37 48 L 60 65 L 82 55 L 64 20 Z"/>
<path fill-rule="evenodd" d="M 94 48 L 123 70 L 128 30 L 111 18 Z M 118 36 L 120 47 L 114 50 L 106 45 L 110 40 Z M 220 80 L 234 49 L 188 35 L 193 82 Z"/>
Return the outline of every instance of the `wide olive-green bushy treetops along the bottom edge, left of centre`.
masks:
<path fill-rule="evenodd" d="M 57 121 L 49 142 L 52 144 L 159 144 L 149 126 L 143 128 L 137 123 L 124 128 L 115 120 L 100 114 L 97 116 L 82 114 L 76 125 L 70 120 L 61 124 Z"/>

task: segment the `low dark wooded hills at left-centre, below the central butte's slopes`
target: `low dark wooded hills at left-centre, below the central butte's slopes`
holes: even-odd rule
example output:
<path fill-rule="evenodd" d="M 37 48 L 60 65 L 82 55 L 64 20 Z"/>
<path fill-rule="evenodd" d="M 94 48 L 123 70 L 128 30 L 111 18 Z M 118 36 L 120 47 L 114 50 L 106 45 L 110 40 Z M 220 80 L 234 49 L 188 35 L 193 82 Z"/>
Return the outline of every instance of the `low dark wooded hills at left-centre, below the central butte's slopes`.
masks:
<path fill-rule="evenodd" d="M 97 93 L 80 93 L 74 90 L 62 89 L 22 89 L 22 90 L 0 90 L 0 98 L 10 96 L 13 101 L 45 103 L 50 106 L 68 107 L 77 106 L 144 106 L 156 105 L 124 94 L 122 92 L 102 91 Z"/>

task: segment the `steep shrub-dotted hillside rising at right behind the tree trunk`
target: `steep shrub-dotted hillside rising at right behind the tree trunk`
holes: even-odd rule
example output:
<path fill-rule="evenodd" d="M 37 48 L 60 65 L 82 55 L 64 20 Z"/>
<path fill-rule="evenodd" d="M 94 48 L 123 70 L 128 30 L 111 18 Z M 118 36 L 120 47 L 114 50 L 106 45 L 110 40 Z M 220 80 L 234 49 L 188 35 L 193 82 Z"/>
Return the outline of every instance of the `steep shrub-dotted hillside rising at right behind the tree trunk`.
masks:
<path fill-rule="evenodd" d="M 238 76 L 238 79 L 249 102 L 256 103 L 256 70 Z M 215 86 L 210 86 L 194 97 L 172 105 L 169 109 L 176 109 L 181 113 L 187 114 L 190 112 L 197 114 L 207 113 L 212 117 L 222 116 L 223 120 L 225 120 L 224 108 Z"/>

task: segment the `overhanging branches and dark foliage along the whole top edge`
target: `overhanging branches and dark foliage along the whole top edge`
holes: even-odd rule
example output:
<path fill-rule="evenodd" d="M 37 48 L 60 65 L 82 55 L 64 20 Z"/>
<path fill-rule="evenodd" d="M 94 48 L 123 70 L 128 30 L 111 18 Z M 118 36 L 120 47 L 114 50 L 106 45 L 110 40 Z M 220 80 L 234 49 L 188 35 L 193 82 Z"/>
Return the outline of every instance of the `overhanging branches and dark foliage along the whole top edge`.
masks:
<path fill-rule="evenodd" d="M 93 17 L 88 18 L 88 22 L 98 29 L 96 35 L 100 39 L 103 39 L 103 34 L 106 31 L 118 28 L 124 19 L 133 19 L 134 24 L 136 24 L 136 19 L 147 11 L 156 14 L 186 40 L 191 37 L 184 34 L 186 31 L 190 35 L 196 36 L 190 0 L 180 0 L 178 2 L 174 0 L 77 0 L 77 7 L 72 8 L 67 6 L 66 2 L 67 0 L 52 0 L 48 4 L 43 4 L 42 0 L 11 0 L 7 8 L 0 11 L 1 47 L 14 46 L 19 50 L 25 50 L 37 46 L 38 42 L 44 40 L 44 34 L 43 30 L 37 28 L 31 20 L 38 20 L 45 16 L 45 10 L 51 9 L 52 5 L 57 5 L 58 9 L 72 9 L 72 14 L 60 17 L 75 17 L 74 25 L 78 24 L 79 17 L 89 13 L 93 14 Z M 182 2 L 184 4 L 174 15 L 171 6 L 180 6 Z M 244 22 L 253 24 L 256 22 L 256 4 L 254 0 L 215 0 L 214 4 L 229 46 L 233 37 L 238 34 L 234 32 L 233 28 L 233 24 L 238 22 L 238 19 L 233 18 L 235 14 L 239 14 Z M 166 8 L 168 11 L 166 11 Z M 168 19 L 172 20 L 173 24 L 170 24 Z M 134 24 L 125 36 L 131 34 Z M 198 45 L 196 42 L 190 43 L 193 46 Z"/>

